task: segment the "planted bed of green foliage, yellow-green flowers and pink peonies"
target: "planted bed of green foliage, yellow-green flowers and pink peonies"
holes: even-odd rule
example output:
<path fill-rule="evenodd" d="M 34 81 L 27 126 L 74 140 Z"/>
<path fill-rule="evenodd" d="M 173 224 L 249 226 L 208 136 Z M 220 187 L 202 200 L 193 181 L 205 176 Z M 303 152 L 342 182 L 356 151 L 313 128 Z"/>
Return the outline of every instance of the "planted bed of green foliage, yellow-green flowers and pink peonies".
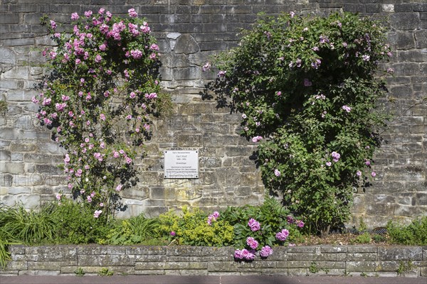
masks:
<path fill-rule="evenodd" d="M 303 226 L 274 199 L 266 200 L 262 206 L 229 207 L 212 214 L 184 209 L 184 214 L 171 211 L 158 218 L 142 214 L 110 222 L 93 218 L 89 207 L 70 200 L 46 204 L 40 212 L 0 207 L 0 267 L 16 261 L 11 257 L 12 244 L 155 245 L 176 249 L 192 245 L 216 247 L 218 251 L 233 247 L 231 255 L 237 263 L 274 260 L 282 257 L 280 251 L 306 244 L 427 245 L 427 217 L 406 226 L 389 222 L 385 231 L 368 231 L 361 226 L 356 231 L 352 229 L 352 233 L 342 231 L 344 239 L 318 238 L 315 242 L 312 236 L 301 234 Z"/>

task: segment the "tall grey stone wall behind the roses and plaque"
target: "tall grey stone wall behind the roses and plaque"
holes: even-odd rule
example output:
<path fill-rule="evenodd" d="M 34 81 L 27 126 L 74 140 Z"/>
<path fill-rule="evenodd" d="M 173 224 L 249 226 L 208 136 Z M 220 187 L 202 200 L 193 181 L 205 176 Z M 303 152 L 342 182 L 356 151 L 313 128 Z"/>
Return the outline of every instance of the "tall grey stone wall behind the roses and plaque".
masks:
<path fill-rule="evenodd" d="M 46 14 L 69 23 L 70 13 L 100 7 L 127 13 L 134 7 L 147 18 L 162 51 L 162 86 L 172 94 L 174 116 L 157 121 L 148 156 L 138 160 L 139 184 L 123 192 L 122 216 L 149 216 L 183 205 L 219 209 L 259 204 L 263 184 L 251 155 L 253 143 L 238 135 L 239 117 L 201 92 L 215 75 L 201 72 L 209 57 L 236 46 L 238 31 L 255 21 L 256 13 L 296 11 L 328 13 L 342 10 L 366 16 L 389 16 L 388 34 L 395 70 L 389 80 L 391 109 L 396 119 L 383 133 L 376 154 L 378 173 L 371 187 L 355 193 L 353 219 L 383 226 L 398 217 L 410 220 L 427 213 L 427 4 L 376 0 L 0 0 L 0 99 L 9 110 L 0 114 L 0 202 L 23 202 L 28 208 L 52 200 L 63 186 L 56 167 L 63 150 L 50 133 L 37 126 L 33 85 L 41 79 L 41 50 L 51 40 L 39 25 Z M 125 4 L 123 4 L 125 3 Z M 199 179 L 164 180 L 162 151 L 199 150 Z"/>

